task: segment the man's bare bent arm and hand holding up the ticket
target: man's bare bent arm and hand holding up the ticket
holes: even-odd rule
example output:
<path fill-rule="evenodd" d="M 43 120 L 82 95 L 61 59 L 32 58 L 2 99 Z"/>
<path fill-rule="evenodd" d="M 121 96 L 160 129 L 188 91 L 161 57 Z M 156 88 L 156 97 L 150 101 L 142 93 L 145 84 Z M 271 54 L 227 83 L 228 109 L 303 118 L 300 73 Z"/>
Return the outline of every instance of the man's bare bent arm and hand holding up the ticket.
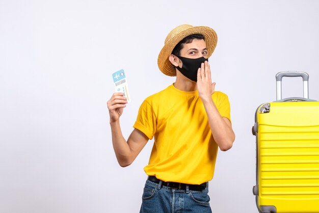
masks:
<path fill-rule="evenodd" d="M 110 113 L 110 125 L 112 131 L 112 143 L 117 161 L 121 167 L 129 166 L 146 145 L 148 138 L 143 132 L 134 129 L 127 141 L 124 139 L 121 126 L 120 116 L 123 108 L 127 103 L 123 93 L 114 93 L 108 101 Z"/>

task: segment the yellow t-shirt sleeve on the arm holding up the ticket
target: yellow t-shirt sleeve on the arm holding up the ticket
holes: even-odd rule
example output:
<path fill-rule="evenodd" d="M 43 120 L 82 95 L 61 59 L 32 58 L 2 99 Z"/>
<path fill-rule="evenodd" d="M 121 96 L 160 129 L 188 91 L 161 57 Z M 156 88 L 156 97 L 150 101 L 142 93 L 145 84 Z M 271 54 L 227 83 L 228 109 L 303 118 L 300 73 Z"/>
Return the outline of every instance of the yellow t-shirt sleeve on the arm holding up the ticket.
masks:
<path fill-rule="evenodd" d="M 156 116 L 151 104 L 144 100 L 139 109 L 134 128 L 142 131 L 151 140 L 156 131 Z"/>

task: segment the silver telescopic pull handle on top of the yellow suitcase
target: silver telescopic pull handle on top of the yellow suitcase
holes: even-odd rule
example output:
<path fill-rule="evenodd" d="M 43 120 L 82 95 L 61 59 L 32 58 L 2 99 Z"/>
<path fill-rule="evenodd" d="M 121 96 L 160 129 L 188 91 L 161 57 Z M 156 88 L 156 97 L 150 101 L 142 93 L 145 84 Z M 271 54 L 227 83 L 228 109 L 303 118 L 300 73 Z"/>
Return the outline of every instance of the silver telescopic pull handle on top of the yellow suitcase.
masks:
<path fill-rule="evenodd" d="M 302 77 L 304 83 L 304 98 L 309 98 L 309 75 L 306 72 L 297 72 L 297 71 L 287 71 L 287 72 L 278 72 L 276 75 L 277 81 L 277 100 L 281 99 L 281 81 L 282 77 Z"/>

